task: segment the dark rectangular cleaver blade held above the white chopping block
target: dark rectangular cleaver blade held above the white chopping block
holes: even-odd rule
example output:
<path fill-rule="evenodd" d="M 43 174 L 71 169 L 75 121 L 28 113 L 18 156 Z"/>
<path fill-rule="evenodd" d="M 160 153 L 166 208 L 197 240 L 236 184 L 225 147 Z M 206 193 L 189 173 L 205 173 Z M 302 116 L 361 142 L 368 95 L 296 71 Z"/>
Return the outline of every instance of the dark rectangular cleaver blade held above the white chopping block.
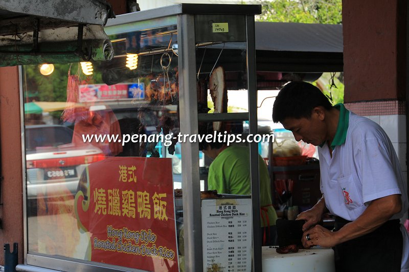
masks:
<path fill-rule="evenodd" d="M 301 238 L 303 237 L 304 224 L 305 220 L 277 219 L 276 228 L 278 245 L 280 247 L 290 244 L 302 246 Z"/>

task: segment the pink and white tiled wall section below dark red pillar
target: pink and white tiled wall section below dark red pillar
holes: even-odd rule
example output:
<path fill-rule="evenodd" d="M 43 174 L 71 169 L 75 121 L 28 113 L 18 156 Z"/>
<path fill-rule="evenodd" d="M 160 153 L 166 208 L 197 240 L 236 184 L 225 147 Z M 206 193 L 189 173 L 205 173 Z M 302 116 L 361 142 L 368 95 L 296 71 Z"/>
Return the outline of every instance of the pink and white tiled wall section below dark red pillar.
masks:
<path fill-rule="evenodd" d="M 404 102 L 374 101 L 346 103 L 345 107 L 356 114 L 375 121 L 388 134 L 398 155 L 403 177 L 407 185 L 406 114 Z M 404 218 L 407 218 L 407 214 Z"/>

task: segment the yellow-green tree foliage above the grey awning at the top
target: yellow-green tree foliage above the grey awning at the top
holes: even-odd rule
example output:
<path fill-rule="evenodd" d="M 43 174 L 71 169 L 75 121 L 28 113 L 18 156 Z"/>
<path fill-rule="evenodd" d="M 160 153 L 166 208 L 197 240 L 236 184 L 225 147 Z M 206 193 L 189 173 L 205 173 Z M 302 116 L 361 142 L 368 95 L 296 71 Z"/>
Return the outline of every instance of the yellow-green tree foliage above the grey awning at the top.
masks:
<path fill-rule="evenodd" d="M 259 21 L 342 23 L 342 0 L 259 0 L 262 14 Z"/>

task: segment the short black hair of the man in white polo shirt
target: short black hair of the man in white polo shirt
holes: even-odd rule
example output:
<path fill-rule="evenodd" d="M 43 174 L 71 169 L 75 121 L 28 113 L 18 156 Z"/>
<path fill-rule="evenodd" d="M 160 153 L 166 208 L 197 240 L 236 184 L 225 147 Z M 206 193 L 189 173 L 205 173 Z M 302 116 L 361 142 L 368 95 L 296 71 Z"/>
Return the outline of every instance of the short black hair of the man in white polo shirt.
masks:
<path fill-rule="evenodd" d="M 332 108 L 327 96 L 314 85 L 304 81 L 293 81 L 284 85 L 272 107 L 272 120 L 277 123 L 286 118 L 307 118 L 315 107 Z"/>

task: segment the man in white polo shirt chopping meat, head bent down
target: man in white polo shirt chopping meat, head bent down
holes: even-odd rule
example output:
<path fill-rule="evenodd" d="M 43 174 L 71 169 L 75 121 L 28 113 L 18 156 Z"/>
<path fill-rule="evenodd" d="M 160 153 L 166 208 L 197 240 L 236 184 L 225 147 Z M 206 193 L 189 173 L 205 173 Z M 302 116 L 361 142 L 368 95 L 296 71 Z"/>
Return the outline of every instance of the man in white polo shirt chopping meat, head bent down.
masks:
<path fill-rule="evenodd" d="M 276 97 L 274 122 L 297 141 L 319 146 L 322 198 L 304 219 L 305 248 L 333 247 L 337 271 L 407 271 L 409 238 L 399 219 L 407 188 L 394 147 L 374 121 L 332 106 L 306 82 L 286 84 Z M 320 225 L 329 210 L 335 229 Z"/>

